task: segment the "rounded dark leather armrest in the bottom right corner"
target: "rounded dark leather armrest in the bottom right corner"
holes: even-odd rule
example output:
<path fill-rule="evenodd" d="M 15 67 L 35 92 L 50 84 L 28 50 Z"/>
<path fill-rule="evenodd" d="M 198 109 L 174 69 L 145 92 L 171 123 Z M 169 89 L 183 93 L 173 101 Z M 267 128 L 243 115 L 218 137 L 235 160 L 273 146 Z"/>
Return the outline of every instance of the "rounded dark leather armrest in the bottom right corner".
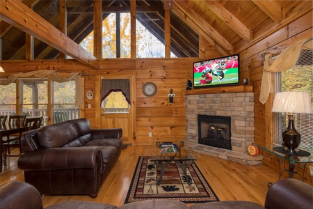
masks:
<path fill-rule="evenodd" d="M 266 194 L 266 209 L 307 209 L 313 206 L 313 187 L 295 178 L 274 183 Z"/>

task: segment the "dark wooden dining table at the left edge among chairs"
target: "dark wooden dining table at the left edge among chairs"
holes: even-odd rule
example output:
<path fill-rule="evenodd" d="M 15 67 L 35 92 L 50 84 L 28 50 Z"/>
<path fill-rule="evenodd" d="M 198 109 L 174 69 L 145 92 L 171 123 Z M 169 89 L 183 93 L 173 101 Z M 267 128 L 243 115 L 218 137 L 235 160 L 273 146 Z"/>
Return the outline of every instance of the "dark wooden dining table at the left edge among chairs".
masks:
<path fill-rule="evenodd" d="M 3 137 L 7 137 L 11 134 L 19 134 L 19 136 L 22 135 L 22 132 L 25 130 L 25 125 L 12 125 L 12 124 L 0 124 L 0 172 L 2 172 L 2 164 L 3 164 L 3 155 L 2 155 L 2 142 Z"/>

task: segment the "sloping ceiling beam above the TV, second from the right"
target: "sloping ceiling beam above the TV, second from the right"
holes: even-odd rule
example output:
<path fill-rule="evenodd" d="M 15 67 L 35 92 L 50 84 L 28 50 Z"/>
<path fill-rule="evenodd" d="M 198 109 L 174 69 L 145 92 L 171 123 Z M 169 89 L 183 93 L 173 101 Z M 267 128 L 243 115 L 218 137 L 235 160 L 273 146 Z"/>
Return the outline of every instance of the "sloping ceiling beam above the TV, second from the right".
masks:
<path fill-rule="evenodd" d="M 220 17 L 220 20 L 225 22 L 233 31 L 235 31 L 243 40 L 249 42 L 251 40 L 251 31 L 242 22 L 240 22 L 230 11 L 228 11 L 218 1 L 205 1 L 209 10 L 211 10 L 216 16 Z"/>

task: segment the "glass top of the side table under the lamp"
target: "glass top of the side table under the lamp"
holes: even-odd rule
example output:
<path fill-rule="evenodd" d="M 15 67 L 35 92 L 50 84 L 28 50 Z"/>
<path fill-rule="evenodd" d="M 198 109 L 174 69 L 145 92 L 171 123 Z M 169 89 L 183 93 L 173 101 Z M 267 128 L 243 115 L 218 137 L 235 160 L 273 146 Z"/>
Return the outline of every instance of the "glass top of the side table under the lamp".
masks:
<path fill-rule="evenodd" d="M 305 150 L 294 151 L 290 153 L 288 150 L 285 150 L 283 146 L 277 146 L 275 144 L 268 144 L 266 146 L 259 146 L 257 144 L 253 144 L 260 150 L 264 150 L 268 153 L 271 153 L 275 156 L 282 157 L 285 160 L 288 160 L 293 163 L 312 163 L 313 156 L 312 153 L 308 153 Z"/>

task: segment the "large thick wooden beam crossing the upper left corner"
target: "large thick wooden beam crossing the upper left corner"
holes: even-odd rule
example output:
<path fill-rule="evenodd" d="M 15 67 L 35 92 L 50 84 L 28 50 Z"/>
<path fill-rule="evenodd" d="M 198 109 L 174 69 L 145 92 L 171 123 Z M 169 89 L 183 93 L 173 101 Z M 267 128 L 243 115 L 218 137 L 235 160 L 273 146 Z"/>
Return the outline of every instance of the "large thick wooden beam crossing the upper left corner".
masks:
<path fill-rule="evenodd" d="M 53 25 L 40 17 L 19 0 L 0 0 L 0 19 L 16 28 L 38 38 L 47 45 L 60 52 L 72 56 L 77 61 L 89 65 L 90 68 L 99 69 L 99 62 L 76 42 L 65 36 Z"/>

